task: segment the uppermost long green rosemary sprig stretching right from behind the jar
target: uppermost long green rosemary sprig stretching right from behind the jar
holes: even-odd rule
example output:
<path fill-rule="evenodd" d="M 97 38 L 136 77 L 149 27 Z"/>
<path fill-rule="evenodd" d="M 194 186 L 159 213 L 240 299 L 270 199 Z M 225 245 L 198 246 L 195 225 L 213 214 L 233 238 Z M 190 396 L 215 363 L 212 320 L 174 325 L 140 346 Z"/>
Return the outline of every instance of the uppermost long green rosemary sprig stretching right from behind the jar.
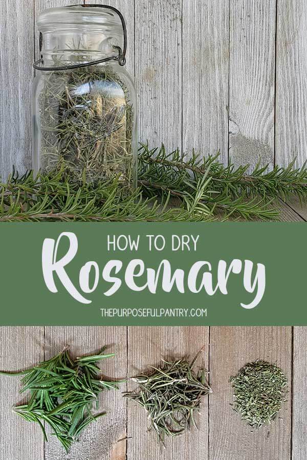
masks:
<path fill-rule="evenodd" d="M 248 173 L 249 165 L 235 168 L 225 167 L 218 161 L 219 154 L 204 157 L 192 152 L 191 158 L 181 154 L 177 149 L 167 153 L 162 145 L 160 149 L 149 149 L 141 144 L 139 150 L 139 177 L 146 181 L 146 186 L 152 187 L 157 193 L 159 187 L 163 190 L 189 191 L 195 182 L 207 174 L 210 177 L 211 199 L 225 194 L 230 197 L 262 197 L 264 199 L 283 199 L 296 195 L 301 199 L 307 197 L 307 167 L 295 168 L 295 160 L 287 168 L 275 166 L 269 171 L 269 165 L 260 167 Z M 164 192 L 163 192 L 164 193 Z"/>

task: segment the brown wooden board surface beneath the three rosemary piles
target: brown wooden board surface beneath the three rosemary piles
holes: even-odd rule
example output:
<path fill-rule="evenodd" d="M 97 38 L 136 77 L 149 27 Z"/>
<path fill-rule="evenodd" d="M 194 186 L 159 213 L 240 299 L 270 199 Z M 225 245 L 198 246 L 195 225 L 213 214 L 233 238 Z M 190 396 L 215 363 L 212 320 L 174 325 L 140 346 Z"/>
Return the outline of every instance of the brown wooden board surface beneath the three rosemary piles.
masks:
<path fill-rule="evenodd" d="M 213 393 L 204 398 L 198 430 L 169 440 L 161 450 L 148 433 L 145 411 L 121 392 L 102 395 L 107 415 L 88 427 L 69 455 L 40 428 L 15 416 L 19 377 L 0 376 L 0 460 L 306 460 L 307 327 L 0 327 L 0 369 L 29 367 L 67 344 L 74 355 L 107 344 L 115 358 L 103 373 L 126 378 L 159 365 L 161 357 L 194 357 L 209 369 Z M 256 359 L 277 363 L 289 380 L 287 402 L 269 427 L 253 430 L 232 410 L 229 378 Z M 128 388 L 135 388 L 128 382 Z M 126 385 L 121 385 L 126 390 Z M 126 438 L 131 438 L 126 440 Z"/>

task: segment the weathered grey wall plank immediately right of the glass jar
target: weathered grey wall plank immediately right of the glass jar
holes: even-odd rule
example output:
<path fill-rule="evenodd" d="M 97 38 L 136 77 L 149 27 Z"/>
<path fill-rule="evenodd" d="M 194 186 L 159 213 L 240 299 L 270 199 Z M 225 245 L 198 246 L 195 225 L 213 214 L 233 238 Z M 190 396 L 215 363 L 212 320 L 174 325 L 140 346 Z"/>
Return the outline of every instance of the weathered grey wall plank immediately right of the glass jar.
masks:
<path fill-rule="evenodd" d="M 140 140 L 182 148 L 182 1 L 138 0 L 136 87 Z"/>

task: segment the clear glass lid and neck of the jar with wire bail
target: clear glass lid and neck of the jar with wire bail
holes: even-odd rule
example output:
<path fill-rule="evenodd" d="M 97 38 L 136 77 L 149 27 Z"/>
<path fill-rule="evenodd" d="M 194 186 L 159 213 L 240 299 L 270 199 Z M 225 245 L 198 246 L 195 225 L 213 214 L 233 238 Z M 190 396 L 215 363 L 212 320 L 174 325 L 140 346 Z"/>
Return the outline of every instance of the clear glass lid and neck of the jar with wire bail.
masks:
<path fill-rule="evenodd" d="M 50 8 L 39 14 L 37 26 L 40 59 L 33 64 L 36 70 L 68 70 L 110 60 L 116 60 L 120 65 L 126 62 L 125 20 L 112 6 Z M 123 47 L 119 45 L 121 43 Z M 83 62 L 73 62 L 76 60 Z M 55 64 L 60 61 L 60 65 Z"/>

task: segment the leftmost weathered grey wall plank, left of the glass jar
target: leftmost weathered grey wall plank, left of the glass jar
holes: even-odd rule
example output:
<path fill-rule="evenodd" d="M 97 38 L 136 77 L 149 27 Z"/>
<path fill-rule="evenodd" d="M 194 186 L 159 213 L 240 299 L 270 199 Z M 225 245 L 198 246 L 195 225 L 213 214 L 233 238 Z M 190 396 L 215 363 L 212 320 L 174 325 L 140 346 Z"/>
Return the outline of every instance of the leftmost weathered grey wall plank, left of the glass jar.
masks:
<path fill-rule="evenodd" d="M 32 164 L 33 2 L 0 2 L 0 176 Z"/>

